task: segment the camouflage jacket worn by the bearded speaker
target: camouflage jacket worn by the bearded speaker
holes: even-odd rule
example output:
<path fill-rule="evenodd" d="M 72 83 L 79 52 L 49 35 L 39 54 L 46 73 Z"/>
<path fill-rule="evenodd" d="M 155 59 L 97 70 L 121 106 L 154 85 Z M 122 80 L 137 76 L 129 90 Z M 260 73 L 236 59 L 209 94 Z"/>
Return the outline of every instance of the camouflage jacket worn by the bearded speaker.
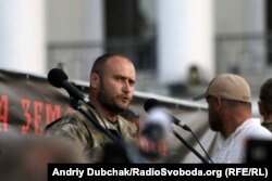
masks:
<path fill-rule="evenodd" d="M 118 117 L 118 122 L 112 124 L 106 118 L 101 119 L 94 108 L 89 112 L 96 117 L 96 121 L 108 129 L 114 130 L 120 138 L 127 143 L 135 143 L 137 139 L 137 128 L 135 125 L 125 120 L 123 117 Z M 112 131 L 111 131 L 112 132 Z M 64 115 L 62 118 L 48 125 L 46 135 L 60 137 L 72 141 L 72 143 L 81 148 L 90 163 L 97 163 L 102 156 L 102 146 L 111 142 L 110 138 L 101 132 L 95 125 L 88 120 L 78 111 Z"/>

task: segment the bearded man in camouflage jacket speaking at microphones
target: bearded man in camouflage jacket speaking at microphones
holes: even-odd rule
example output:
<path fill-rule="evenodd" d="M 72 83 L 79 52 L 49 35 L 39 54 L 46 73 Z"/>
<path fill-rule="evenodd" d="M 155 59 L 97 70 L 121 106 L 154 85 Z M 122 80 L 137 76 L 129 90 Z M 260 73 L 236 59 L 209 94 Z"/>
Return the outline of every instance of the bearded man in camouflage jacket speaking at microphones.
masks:
<path fill-rule="evenodd" d="M 137 128 L 120 116 L 131 103 L 136 82 L 134 64 L 121 54 L 104 54 L 98 57 L 89 78 L 88 111 L 95 121 L 119 140 L 136 143 Z M 103 147 L 112 140 L 99 130 L 78 111 L 69 113 L 46 127 L 46 135 L 72 141 L 89 158 L 99 163 Z"/>

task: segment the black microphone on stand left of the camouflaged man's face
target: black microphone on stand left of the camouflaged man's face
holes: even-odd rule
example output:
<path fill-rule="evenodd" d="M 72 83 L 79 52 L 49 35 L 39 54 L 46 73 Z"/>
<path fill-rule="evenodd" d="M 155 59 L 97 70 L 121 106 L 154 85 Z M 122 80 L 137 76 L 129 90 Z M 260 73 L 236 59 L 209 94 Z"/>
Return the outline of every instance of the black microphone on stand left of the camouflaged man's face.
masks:
<path fill-rule="evenodd" d="M 75 86 L 67 81 L 67 75 L 60 68 L 52 68 L 48 73 L 48 81 L 57 88 L 64 88 L 70 96 L 74 98 L 75 101 L 84 101 L 89 104 L 90 101 L 86 98 Z"/>

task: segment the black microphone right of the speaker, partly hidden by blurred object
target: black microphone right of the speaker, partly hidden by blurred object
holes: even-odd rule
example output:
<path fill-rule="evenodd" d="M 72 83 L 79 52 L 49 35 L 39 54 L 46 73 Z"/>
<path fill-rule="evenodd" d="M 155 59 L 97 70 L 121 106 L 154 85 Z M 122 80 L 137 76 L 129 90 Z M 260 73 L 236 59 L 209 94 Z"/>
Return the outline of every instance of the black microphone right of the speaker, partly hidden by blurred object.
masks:
<path fill-rule="evenodd" d="M 162 104 L 158 100 L 156 100 L 156 99 L 148 99 L 146 101 L 145 105 L 144 105 L 144 108 L 145 108 L 146 112 L 149 112 L 149 111 L 151 111 L 154 107 L 162 107 Z M 169 116 L 171 117 L 172 121 L 175 125 L 182 127 L 186 131 L 191 131 L 191 129 L 187 125 L 185 125 L 184 122 L 182 122 L 180 119 L 177 119 L 176 117 L 174 117 L 172 115 L 169 115 Z"/>

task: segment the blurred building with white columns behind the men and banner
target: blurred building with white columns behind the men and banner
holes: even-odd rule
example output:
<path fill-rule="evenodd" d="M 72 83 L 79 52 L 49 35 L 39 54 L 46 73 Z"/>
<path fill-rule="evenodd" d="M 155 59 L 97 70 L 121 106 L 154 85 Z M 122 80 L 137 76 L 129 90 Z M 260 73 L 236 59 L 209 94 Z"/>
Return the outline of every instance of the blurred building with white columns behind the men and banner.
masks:
<path fill-rule="evenodd" d="M 138 91 L 183 99 L 215 74 L 239 74 L 255 93 L 270 77 L 269 0 L 0 3 L 1 68 L 47 75 L 59 66 L 87 81 L 98 55 L 120 52 L 136 65 Z"/>

